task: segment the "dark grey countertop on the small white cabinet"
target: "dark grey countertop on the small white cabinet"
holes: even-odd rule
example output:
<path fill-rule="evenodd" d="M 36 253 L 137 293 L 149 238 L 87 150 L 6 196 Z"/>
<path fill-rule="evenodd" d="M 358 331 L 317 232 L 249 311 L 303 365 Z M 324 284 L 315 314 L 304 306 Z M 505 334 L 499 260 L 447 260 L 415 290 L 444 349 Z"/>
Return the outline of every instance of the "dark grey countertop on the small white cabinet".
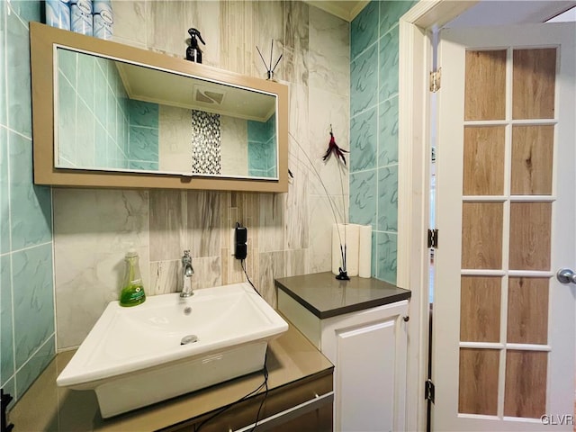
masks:
<path fill-rule="evenodd" d="M 410 299 L 411 292 L 374 278 L 338 281 L 331 272 L 282 277 L 275 286 L 320 319 Z"/>

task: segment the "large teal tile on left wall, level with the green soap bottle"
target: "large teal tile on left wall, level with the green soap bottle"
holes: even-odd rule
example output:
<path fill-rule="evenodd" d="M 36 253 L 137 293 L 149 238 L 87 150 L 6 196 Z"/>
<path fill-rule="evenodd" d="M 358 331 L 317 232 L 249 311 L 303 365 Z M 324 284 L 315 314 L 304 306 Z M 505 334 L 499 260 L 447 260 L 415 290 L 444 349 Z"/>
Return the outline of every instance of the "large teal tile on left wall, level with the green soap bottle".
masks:
<path fill-rule="evenodd" d="M 22 367 L 54 333 L 52 245 L 12 255 L 15 367 Z"/>

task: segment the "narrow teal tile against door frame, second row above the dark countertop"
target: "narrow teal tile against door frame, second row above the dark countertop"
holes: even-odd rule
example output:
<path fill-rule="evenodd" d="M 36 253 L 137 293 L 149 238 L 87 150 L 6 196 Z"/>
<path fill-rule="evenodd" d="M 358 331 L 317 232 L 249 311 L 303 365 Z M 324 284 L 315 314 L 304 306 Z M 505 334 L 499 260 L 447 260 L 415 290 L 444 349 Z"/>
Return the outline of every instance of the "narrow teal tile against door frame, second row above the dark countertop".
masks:
<path fill-rule="evenodd" d="M 378 230 L 398 230 L 398 166 L 378 168 Z"/>

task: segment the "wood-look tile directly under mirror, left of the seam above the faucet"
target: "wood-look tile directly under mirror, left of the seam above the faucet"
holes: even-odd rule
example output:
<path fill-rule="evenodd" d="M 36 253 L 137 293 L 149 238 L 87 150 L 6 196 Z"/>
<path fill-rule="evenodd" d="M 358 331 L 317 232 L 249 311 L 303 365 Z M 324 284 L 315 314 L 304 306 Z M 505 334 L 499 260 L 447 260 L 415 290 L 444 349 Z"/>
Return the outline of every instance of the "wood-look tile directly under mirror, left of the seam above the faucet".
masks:
<path fill-rule="evenodd" d="M 149 190 L 150 261 L 170 261 L 183 256 L 185 194 L 180 191 Z"/>

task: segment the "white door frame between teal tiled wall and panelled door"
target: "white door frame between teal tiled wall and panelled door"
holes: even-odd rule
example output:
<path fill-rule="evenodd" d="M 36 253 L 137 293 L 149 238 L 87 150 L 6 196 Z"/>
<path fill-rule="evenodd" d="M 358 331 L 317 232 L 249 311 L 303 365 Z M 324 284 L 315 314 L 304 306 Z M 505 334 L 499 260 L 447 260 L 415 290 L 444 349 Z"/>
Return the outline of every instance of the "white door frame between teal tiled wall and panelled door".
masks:
<path fill-rule="evenodd" d="M 410 289 L 406 430 L 426 430 L 430 33 L 478 1 L 419 1 L 399 23 L 399 179 L 397 282 Z M 441 241 L 441 240 L 440 240 Z"/>

